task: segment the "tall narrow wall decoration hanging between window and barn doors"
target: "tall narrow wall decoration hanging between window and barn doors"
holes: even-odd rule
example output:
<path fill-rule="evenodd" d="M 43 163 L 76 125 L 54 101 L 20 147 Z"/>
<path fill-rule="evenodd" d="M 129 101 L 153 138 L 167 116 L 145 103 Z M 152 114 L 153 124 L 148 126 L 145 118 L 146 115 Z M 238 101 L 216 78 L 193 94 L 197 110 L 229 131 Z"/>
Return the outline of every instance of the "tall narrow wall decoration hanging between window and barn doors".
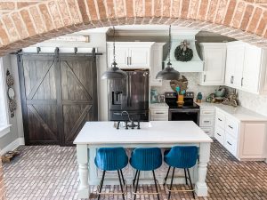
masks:
<path fill-rule="evenodd" d="M 10 74 L 9 70 L 6 71 L 6 84 L 8 86 L 7 97 L 9 100 L 9 110 L 10 110 L 11 117 L 13 117 L 15 116 L 14 111 L 17 108 L 17 102 L 15 100 L 15 91 L 13 89 L 14 78 Z"/>

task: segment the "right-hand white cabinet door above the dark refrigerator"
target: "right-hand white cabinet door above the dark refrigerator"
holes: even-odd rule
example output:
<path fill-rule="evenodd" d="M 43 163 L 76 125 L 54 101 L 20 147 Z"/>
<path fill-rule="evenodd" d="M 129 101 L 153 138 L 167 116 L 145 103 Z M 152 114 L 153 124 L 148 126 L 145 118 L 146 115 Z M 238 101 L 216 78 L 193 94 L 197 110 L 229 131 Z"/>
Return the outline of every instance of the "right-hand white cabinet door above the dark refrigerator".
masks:
<path fill-rule="evenodd" d="M 130 47 L 129 57 L 129 67 L 150 68 L 150 48 Z"/>

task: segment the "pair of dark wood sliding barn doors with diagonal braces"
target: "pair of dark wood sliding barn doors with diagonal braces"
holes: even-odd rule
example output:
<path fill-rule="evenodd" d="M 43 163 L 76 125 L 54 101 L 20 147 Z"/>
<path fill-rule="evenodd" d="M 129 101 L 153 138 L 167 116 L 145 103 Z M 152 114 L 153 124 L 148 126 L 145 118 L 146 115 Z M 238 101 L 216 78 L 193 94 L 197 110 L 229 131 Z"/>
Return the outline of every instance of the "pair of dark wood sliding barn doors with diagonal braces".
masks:
<path fill-rule="evenodd" d="M 89 56 L 19 55 L 27 145 L 72 145 L 97 115 L 96 66 Z"/>

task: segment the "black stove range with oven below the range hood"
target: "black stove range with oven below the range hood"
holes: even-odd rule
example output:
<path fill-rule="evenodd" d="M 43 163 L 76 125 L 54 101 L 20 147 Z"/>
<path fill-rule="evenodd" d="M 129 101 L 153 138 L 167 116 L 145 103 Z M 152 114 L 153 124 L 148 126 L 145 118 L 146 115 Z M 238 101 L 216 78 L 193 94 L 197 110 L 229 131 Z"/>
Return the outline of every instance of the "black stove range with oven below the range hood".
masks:
<path fill-rule="evenodd" d="M 165 100 L 169 106 L 169 121 L 193 121 L 199 124 L 200 108 L 194 103 L 194 92 L 185 92 L 182 106 L 176 102 L 176 92 L 165 92 Z"/>

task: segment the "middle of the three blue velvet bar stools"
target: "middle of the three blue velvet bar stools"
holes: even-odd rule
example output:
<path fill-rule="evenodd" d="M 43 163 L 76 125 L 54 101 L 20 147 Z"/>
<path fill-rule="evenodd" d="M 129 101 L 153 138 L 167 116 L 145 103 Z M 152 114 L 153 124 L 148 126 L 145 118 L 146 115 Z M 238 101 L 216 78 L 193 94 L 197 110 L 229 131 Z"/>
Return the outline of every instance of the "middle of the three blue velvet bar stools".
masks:
<path fill-rule="evenodd" d="M 159 200 L 159 192 L 158 192 L 158 180 L 156 180 L 154 170 L 158 169 L 162 164 L 162 155 L 160 148 L 135 148 L 132 157 L 130 159 L 130 164 L 136 170 L 133 180 L 132 192 L 134 194 L 134 200 L 136 195 L 157 195 Z M 153 178 L 155 182 L 155 187 L 157 193 L 137 193 L 138 182 L 141 171 L 152 171 Z M 137 179 L 137 180 L 136 180 Z M 136 185 L 135 185 L 136 180 Z M 135 188 L 134 188 L 135 185 Z"/>

